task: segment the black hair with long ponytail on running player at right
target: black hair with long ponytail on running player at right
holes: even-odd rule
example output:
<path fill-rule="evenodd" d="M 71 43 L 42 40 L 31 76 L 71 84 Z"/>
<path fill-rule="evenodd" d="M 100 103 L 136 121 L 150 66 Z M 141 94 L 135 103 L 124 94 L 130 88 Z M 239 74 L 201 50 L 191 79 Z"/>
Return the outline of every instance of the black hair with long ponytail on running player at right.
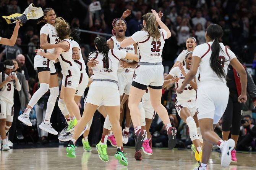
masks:
<path fill-rule="evenodd" d="M 212 54 L 210 58 L 210 66 L 212 70 L 217 74 L 219 78 L 226 78 L 225 71 L 222 67 L 222 64 L 219 60 L 219 53 L 220 50 L 220 44 L 219 44 L 219 38 L 223 35 L 223 30 L 218 24 L 211 24 L 206 29 L 207 35 L 213 40 L 212 43 Z"/>

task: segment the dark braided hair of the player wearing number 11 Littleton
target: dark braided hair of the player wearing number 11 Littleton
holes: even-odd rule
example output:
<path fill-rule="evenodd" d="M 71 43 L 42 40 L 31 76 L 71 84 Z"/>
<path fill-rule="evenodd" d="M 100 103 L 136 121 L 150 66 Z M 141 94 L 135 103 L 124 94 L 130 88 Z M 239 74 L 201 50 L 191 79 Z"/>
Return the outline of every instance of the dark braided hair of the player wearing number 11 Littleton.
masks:
<path fill-rule="evenodd" d="M 104 63 L 104 66 L 105 68 L 108 70 L 109 69 L 109 45 L 107 44 L 107 40 L 105 37 L 96 37 L 95 40 L 94 40 L 94 44 L 95 46 L 97 47 L 97 50 L 96 51 L 93 51 L 89 54 L 89 57 L 92 55 L 92 54 L 103 54 L 103 63 Z M 111 60 L 110 60 L 111 61 Z"/>

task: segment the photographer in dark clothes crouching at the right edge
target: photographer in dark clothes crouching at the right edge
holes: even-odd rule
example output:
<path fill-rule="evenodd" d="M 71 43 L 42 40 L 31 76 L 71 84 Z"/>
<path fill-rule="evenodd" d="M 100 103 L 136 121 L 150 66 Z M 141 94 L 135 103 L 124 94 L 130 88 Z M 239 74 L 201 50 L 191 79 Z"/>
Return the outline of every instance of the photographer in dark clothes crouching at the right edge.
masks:
<path fill-rule="evenodd" d="M 253 138 L 256 137 L 256 126 L 252 124 L 252 119 L 250 115 L 243 116 L 241 120 L 242 126 L 240 127 L 240 140 L 237 144 L 237 150 L 249 151 L 249 146 L 254 142 Z M 253 148 L 254 149 L 254 148 Z"/>

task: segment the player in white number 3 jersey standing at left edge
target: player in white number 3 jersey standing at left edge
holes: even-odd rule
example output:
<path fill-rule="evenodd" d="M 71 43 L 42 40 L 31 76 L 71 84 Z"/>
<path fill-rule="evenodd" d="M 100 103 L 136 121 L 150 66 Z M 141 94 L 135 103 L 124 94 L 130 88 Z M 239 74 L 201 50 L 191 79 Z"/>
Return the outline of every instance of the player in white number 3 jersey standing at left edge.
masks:
<path fill-rule="evenodd" d="M 17 24 L 16 24 L 17 25 Z M 13 122 L 13 93 L 14 89 L 21 90 L 21 84 L 15 72 L 13 62 L 5 60 L 3 71 L 0 72 L 0 147 L 3 143 L 3 151 L 10 150 L 6 140 L 6 133 Z M 1 149 L 1 148 L 0 148 Z"/>

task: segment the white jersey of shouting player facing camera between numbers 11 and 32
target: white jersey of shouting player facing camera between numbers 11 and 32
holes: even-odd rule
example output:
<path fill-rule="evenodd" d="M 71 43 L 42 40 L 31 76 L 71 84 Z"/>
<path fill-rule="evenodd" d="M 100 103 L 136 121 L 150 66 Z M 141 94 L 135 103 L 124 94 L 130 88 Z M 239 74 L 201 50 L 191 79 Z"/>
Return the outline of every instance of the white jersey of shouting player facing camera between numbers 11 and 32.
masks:
<path fill-rule="evenodd" d="M 125 38 L 127 38 L 127 37 L 125 37 Z M 129 52 L 131 54 L 135 54 L 133 44 L 131 44 L 130 46 L 127 46 L 127 47 L 120 47 L 120 42 L 117 41 L 117 38 L 115 36 L 112 36 L 110 38 L 110 40 L 114 41 L 114 48 L 113 49 L 123 50 L 123 51 Z M 126 59 L 122 59 L 122 60 L 124 60 L 126 62 L 133 62 L 132 60 L 126 60 Z M 122 67 L 120 67 L 120 64 L 121 64 L 121 61 L 119 61 L 119 64 L 118 64 L 118 70 L 117 70 L 118 72 L 133 72 L 134 71 L 134 68 L 123 69 Z"/>

